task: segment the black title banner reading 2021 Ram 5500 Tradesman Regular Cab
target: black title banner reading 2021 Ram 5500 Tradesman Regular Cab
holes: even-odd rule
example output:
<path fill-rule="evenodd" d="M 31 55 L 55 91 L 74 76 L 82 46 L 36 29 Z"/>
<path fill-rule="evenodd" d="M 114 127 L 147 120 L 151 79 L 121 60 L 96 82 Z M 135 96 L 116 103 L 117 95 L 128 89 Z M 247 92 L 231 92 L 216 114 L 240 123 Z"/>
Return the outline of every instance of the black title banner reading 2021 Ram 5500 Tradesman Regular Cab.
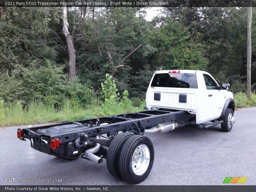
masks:
<path fill-rule="evenodd" d="M 1 0 L 1 7 L 247 7 L 256 0 Z"/>

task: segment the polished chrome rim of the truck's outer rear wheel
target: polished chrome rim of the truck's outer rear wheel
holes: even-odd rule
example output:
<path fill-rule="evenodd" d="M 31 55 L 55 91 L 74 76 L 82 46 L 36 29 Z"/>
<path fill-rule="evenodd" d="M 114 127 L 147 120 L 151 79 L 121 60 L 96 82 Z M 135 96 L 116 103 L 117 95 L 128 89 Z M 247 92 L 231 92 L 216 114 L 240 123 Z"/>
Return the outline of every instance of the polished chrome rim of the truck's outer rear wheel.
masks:
<path fill-rule="evenodd" d="M 148 169 L 150 152 L 147 145 L 139 145 L 132 155 L 132 171 L 136 175 L 142 175 Z"/>

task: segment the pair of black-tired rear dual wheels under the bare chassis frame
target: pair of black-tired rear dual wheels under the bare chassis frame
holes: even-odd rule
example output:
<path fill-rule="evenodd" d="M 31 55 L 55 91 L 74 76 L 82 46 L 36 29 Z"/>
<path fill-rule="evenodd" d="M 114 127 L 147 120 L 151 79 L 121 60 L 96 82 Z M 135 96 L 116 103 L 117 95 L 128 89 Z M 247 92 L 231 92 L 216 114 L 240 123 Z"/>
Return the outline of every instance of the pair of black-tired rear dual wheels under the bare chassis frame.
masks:
<path fill-rule="evenodd" d="M 144 181 L 154 162 L 152 142 L 148 137 L 131 133 L 122 133 L 117 137 L 108 148 L 108 171 L 132 184 Z"/>

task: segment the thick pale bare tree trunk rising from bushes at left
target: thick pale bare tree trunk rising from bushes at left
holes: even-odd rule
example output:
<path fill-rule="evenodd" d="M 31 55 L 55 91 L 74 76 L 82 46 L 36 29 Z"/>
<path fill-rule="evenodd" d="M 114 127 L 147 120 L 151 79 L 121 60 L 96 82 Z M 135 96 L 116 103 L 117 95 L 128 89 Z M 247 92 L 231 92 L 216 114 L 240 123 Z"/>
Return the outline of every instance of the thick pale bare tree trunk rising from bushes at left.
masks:
<path fill-rule="evenodd" d="M 76 54 L 73 45 L 72 36 L 68 32 L 68 20 L 67 20 L 67 7 L 62 8 L 63 11 L 63 28 L 62 32 L 67 40 L 68 44 L 68 56 L 69 56 L 69 78 L 71 81 L 74 81 L 76 78 Z"/>

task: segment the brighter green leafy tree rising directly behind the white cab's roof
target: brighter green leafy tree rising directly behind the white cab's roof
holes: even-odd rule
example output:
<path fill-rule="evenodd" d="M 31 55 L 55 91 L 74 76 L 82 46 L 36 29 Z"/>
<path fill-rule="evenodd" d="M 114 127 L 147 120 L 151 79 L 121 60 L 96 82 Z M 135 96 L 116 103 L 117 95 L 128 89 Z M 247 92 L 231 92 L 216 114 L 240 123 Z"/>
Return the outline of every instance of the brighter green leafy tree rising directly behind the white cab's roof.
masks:
<path fill-rule="evenodd" d="M 201 43 L 180 21 L 165 18 L 165 24 L 152 33 L 157 51 L 152 59 L 155 66 L 165 69 L 202 69 L 207 66 Z"/>

